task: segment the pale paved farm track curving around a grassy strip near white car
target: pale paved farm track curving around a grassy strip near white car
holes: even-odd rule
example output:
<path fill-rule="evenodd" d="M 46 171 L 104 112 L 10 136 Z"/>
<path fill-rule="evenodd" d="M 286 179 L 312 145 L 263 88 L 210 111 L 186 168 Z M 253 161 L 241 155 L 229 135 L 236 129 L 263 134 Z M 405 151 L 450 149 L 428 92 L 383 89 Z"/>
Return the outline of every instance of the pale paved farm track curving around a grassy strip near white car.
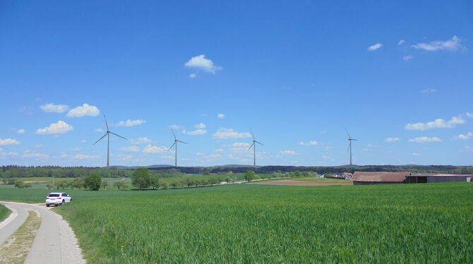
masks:
<path fill-rule="evenodd" d="M 25 222 L 28 211 L 41 215 L 41 226 L 25 263 L 85 263 L 76 236 L 68 223 L 44 204 L 0 202 L 12 213 L 0 223 L 0 244 Z"/>

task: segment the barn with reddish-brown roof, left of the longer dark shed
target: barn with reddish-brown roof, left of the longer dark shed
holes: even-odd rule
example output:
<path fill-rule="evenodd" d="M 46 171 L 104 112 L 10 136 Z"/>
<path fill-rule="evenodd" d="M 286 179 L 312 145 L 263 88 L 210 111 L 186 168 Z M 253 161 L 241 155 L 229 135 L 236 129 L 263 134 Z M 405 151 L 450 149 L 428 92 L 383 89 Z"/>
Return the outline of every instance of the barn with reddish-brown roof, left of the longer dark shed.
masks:
<path fill-rule="evenodd" d="M 355 172 L 352 176 L 354 185 L 405 184 L 410 172 Z"/>

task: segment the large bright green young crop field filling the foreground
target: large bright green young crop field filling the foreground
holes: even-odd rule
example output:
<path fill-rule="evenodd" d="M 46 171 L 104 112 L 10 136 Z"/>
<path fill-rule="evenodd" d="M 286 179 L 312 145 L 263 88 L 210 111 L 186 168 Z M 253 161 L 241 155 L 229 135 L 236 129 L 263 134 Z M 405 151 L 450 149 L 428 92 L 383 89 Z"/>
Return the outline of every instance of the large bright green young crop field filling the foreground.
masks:
<path fill-rule="evenodd" d="M 138 195 L 84 198 L 56 209 L 90 263 L 473 260 L 469 183 L 109 193 Z"/>

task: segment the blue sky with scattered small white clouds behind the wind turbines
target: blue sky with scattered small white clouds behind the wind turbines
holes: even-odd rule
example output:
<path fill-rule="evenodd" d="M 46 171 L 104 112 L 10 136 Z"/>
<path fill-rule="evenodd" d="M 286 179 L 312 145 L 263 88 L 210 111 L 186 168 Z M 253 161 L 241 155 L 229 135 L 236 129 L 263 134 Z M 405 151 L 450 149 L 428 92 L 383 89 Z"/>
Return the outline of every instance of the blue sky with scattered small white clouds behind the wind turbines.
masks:
<path fill-rule="evenodd" d="M 471 1 L 2 1 L 0 164 L 472 165 Z M 129 120 L 129 121 L 128 121 Z"/>

